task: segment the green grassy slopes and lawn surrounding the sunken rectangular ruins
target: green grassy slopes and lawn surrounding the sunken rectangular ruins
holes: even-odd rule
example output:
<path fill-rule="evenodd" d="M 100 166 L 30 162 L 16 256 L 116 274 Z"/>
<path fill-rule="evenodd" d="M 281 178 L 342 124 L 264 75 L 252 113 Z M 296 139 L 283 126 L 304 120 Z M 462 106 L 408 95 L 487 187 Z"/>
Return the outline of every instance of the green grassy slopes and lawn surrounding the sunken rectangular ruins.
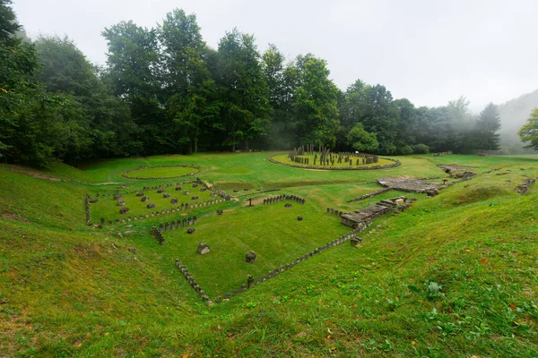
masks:
<path fill-rule="evenodd" d="M 47 173 L 62 182 L 0 168 L 0 355 L 538 355 L 538 189 L 513 191 L 538 175 L 536 157 L 403 158 L 398 168 L 335 173 L 266 156 L 108 160 Z M 176 162 L 202 165 L 204 180 L 227 188 L 286 188 L 320 210 L 365 205 L 344 201 L 375 190 L 356 184 L 378 176 L 440 176 L 436 163 L 501 169 L 377 219 L 360 249 L 325 251 L 205 307 L 145 228 L 83 226 L 83 194 L 103 187 L 78 181 L 140 185 L 121 173 Z M 429 294 L 430 281 L 440 294 Z"/>

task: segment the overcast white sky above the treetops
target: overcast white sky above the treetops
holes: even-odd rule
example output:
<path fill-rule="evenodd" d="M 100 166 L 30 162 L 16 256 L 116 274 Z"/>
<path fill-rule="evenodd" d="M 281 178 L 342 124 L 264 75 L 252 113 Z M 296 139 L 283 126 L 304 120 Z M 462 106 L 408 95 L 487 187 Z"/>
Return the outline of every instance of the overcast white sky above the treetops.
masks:
<path fill-rule="evenodd" d="M 67 35 L 105 64 L 101 31 L 122 20 L 154 27 L 174 8 L 195 13 L 216 48 L 226 30 L 289 58 L 324 58 L 334 82 L 380 83 L 416 106 L 464 95 L 480 111 L 538 88 L 538 0 L 13 0 L 30 36 Z"/>

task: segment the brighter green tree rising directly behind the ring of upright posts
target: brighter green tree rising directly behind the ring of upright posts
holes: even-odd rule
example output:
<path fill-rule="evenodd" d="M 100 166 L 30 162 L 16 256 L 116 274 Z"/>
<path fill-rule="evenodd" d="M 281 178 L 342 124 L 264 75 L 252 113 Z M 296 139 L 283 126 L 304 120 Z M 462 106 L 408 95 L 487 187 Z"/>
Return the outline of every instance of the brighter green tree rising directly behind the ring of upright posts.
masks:
<path fill-rule="evenodd" d="M 338 89 L 329 77 L 325 60 L 299 55 L 295 62 L 297 90 L 293 93 L 298 144 L 334 147 L 339 128 Z"/>

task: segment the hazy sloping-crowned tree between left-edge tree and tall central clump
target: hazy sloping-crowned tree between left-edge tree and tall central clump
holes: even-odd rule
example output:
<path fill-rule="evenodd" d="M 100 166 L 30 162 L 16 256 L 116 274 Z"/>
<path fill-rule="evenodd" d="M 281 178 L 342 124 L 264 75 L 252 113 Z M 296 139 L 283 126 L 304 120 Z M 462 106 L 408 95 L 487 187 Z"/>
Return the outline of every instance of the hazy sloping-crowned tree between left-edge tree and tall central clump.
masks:
<path fill-rule="evenodd" d="M 131 139 L 134 124 L 125 104 L 110 93 L 94 67 L 69 38 L 39 37 L 35 41 L 42 64 L 38 79 L 49 92 L 63 97 L 72 110 L 70 131 L 73 148 L 65 150 L 65 160 L 125 156 L 136 152 Z"/>

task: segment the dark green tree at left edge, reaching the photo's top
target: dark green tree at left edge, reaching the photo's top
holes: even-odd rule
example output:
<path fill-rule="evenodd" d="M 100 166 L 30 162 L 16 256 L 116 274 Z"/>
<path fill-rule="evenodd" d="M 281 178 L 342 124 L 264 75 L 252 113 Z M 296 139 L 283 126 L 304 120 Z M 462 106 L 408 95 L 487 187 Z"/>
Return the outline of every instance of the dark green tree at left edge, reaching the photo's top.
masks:
<path fill-rule="evenodd" d="M 0 0 L 0 157 L 48 166 L 70 142 L 81 143 L 69 135 L 80 130 L 69 120 L 79 108 L 71 98 L 49 95 L 36 80 L 38 55 L 17 38 L 21 27 L 8 4 Z"/>

